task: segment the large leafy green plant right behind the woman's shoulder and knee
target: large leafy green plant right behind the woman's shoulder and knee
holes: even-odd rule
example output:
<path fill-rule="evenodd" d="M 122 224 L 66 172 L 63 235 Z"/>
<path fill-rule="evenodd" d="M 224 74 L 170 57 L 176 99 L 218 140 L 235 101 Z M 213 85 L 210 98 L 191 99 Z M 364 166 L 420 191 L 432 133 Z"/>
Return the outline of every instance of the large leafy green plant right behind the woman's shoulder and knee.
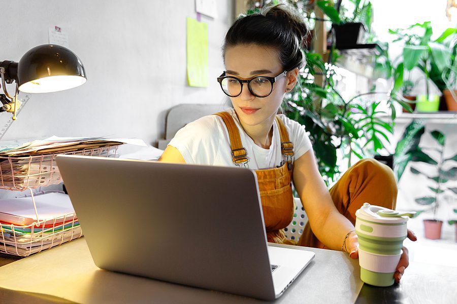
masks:
<path fill-rule="evenodd" d="M 285 96 L 286 114 L 310 132 L 319 171 L 330 185 L 341 173 L 338 151 L 349 167 L 353 156 L 362 159 L 384 148 L 393 129 L 391 123 L 380 117 L 387 114 L 378 109 L 380 102 L 366 98 L 378 96 L 377 92 L 345 100 L 336 89 L 332 66 L 316 53 L 308 52 L 306 58 L 298 85 Z M 314 82 L 318 74 L 327 75 L 324 87 Z M 387 102 L 392 105 L 394 101 L 389 98 Z M 395 118 L 395 108 L 393 105 L 391 108 Z"/>

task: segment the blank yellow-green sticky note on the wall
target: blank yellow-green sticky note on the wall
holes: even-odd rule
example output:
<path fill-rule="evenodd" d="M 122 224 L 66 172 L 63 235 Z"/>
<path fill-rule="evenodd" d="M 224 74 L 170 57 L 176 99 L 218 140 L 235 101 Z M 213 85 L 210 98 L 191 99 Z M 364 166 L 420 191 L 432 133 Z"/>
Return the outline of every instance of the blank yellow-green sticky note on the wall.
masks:
<path fill-rule="evenodd" d="M 208 87 L 208 24 L 187 18 L 187 84 Z"/>

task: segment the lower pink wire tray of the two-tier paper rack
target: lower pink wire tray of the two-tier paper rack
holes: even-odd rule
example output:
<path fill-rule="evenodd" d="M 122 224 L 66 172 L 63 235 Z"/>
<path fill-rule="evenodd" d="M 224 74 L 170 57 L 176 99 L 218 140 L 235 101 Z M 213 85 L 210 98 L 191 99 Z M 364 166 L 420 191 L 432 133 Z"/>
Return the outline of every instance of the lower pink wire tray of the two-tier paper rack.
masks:
<path fill-rule="evenodd" d="M 39 192 L 35 196 L 44 193 L 46 192 Z M 74 212 L 51 220 L 38 220 L 29 225 L 0 223 L 0 252 L 29 256 L 82 235 Z"/>

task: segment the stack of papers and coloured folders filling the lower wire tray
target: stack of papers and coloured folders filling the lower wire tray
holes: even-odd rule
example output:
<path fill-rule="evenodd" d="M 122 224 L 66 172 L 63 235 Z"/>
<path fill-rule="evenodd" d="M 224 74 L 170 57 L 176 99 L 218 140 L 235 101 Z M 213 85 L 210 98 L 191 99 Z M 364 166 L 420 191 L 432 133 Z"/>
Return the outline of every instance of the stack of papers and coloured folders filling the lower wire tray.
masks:
<path fill-rule="evenodd" d="M 0 200 L 0 251 L 26 256 L 82 235 L 68 195 Z"/>

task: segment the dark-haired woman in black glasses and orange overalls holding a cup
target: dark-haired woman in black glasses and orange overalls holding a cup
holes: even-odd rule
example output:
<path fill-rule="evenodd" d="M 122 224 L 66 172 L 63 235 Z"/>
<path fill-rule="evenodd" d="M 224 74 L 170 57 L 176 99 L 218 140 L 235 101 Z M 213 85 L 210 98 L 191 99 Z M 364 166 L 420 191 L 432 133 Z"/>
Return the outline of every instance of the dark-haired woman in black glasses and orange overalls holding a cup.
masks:
<path fill-rule="evenodd" d="M 304 64 L 306 34 L 300 16 L 284 5 L 235 21 L 222 48 L 225 71 L 217 79 L 233 108 L 186 125 L 160 161 L 255 170 L 268 241 L 276 243 L 292 244 L 283 229 L 293 216 L 293 181 L 309 218 L 297 244 L 343 250 L 358 258 L 355 211 L 365 202 L 394 209 L 396 181 L 387 166 L 362 160 L 329 192 L 303 126 L 277 115 Z M 416 239 L 410 231 L 408 238 Z M 397 282 L 407 266 L 408 250 L 403 248 Z"/>

